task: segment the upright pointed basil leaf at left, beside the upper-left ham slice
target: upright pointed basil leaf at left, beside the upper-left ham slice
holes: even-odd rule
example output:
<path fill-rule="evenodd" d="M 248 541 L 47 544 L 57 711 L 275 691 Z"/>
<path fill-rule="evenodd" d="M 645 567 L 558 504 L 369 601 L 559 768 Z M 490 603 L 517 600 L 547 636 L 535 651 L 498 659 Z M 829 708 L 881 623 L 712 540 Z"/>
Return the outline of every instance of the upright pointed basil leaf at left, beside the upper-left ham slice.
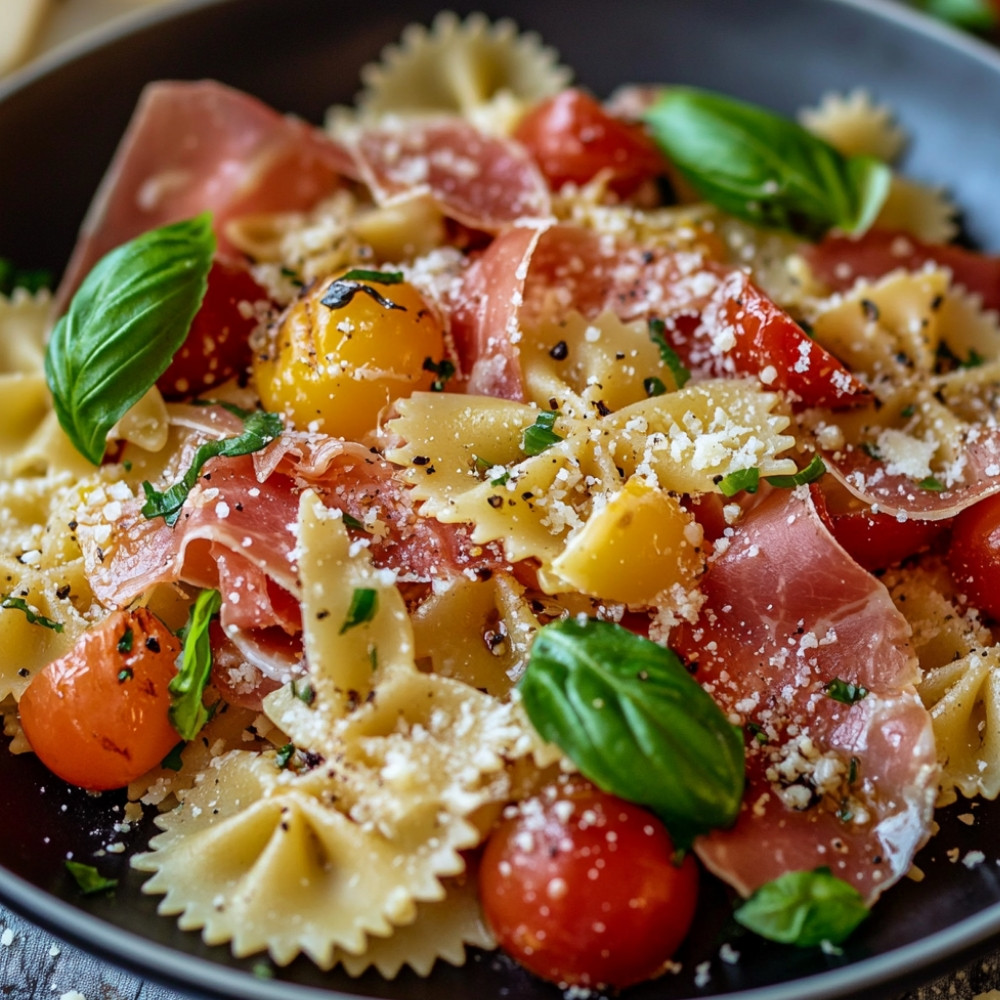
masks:
<path fill-rule="evenodd" d="M 56 323 L 45 355 L 53 406 L 95 465 L 108 431 L 184 343 L 214 253 L 208 213 L 144 233 L 97 262 Z"/>

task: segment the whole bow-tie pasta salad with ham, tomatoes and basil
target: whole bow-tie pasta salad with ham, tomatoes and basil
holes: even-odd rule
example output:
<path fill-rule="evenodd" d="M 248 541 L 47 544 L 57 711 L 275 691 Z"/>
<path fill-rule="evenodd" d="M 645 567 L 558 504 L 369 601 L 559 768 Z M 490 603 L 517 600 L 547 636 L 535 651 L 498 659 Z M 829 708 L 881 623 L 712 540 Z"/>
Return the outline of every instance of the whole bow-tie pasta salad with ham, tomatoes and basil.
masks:
<path fill-rule="evenodd" d="M 362 82 L 152 84 L 54 295 L 0 262 L 10 752 L 239 956 L 620 988 L 704 873 L 837 947 L 1000 792 L 1000 260 L 863 91 L 450 15 Z"/>

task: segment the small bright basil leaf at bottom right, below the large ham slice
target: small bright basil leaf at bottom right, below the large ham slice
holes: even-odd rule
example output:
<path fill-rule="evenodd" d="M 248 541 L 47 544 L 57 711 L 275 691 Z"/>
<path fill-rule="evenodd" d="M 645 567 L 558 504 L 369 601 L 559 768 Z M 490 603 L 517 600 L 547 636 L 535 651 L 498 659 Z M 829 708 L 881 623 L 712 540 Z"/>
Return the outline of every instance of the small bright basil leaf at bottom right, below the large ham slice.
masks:
<path fill-rule="evenodd" d="M 868 916 L 861 894 L 829 868 L 787 872 L 762 885 L 736 912 L 748 930 L 801 948 L 840 944 Z"/>

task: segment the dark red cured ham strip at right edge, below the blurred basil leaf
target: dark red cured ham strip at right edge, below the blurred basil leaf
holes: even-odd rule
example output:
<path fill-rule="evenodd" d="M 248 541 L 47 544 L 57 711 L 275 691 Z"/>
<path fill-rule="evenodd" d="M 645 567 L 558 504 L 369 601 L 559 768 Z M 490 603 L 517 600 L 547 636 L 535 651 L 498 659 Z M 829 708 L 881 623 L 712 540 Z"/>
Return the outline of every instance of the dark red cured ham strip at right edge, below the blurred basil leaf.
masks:
<path fill-rule="evenodd" d="M 948 268 L 955 281 L 982 299 L 984 309 L 1000 311 L 1000 257 L 964 247 L 921 243 L 914 237 L 885 229 L 870 229 L 860 237 L 827 236 L 803 247 L 816 277 L 834 291 L 845 291 L 858 278 L 874 280 L 905 268 L 918 271 L 932 262 Z"/>

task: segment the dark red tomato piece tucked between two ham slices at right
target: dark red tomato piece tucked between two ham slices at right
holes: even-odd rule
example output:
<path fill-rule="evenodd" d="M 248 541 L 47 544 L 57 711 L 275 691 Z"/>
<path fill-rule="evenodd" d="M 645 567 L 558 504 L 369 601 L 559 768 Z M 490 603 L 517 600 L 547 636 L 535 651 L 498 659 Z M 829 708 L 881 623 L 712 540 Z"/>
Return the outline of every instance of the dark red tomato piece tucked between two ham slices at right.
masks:
<path fill-rule="evenodd" d="M 911 517 L 900 521 L 892 514 L 873 513 L 830 476 L 822 487 L 813 485 L 816 509 L 830 534 L 854 561 L 869 571 L 885 569 L 921 552 L 944 534 L 950 521 Z"/>

